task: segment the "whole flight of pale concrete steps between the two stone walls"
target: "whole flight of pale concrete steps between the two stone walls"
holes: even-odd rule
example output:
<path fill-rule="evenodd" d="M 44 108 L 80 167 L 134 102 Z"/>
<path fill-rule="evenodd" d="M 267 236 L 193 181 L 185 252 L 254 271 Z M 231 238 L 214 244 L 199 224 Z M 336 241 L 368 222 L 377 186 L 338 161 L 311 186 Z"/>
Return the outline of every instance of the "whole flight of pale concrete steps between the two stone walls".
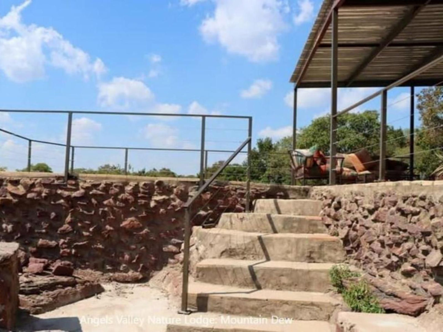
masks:
<path fill-rule="evenodd" d="M 339 301 L 326 293 L 328 271 L 344 260 L 341 241 L 326 234 L 312 200 L 257 200 L 254 213 L 225 213 L 216 228 L 194 229 L 206 259 L 189 285 L 191 314 L 213 324 L 170 324 L 167 331 L 333 331 Z M 227 324 L 221 315 L 268 317 Z M 276 324 L 271 316 L 292 319 Z M 214 320 L 210 320 L 214 319 Z"/>

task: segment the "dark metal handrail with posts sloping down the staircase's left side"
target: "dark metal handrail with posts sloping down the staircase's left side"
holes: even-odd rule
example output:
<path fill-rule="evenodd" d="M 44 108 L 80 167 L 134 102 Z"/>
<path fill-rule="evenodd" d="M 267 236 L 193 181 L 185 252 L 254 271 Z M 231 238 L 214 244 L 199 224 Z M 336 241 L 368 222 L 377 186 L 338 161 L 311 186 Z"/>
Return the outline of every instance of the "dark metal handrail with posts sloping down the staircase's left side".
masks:
<path fill-rule="evenodd" d="M 250 209 L 250 186 L 251 186 L 251 171 L 250 171 L 250 151 L 251 151 L 252 137 L 249 136 L 245 142 L 243 142 L 240 147 L 220 166 L 220 168 L 210 177 L 209 180 L 205 182 L 204 185 L 198 189 L 198 192 L 193 196 L 189 197 L 187 202 L 183 205 L 185 209 L 185 234 L 184 234 L 184 248 L 183 248 L 183 284 L 182 284 L 182 306 L 179 313 L 190 314 L 188 310 L 188 284 L 189 284 L 189 246 L 190 246 L 190 207 L 200 195 L 208 189 L 208 187 L 214 182 L 215 178 L 225 170 L 226 166 L 243 150 L 243 148 L 248 145 L 248 171 L 247 171 L 247 181 L 246 181 L 246 212 Z"/>

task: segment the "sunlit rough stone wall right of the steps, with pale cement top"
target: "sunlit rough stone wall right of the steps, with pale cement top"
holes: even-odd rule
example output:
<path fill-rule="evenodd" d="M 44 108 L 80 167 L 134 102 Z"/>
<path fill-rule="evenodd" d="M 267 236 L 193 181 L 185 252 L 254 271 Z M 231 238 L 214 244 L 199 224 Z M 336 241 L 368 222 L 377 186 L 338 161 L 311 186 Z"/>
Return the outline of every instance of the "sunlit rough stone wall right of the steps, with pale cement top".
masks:
<path fill-rule="evenodd" d="M 316 187 L 331 235 L 388 312 L 417 315 L 443 294 L 443 181 Z"/>

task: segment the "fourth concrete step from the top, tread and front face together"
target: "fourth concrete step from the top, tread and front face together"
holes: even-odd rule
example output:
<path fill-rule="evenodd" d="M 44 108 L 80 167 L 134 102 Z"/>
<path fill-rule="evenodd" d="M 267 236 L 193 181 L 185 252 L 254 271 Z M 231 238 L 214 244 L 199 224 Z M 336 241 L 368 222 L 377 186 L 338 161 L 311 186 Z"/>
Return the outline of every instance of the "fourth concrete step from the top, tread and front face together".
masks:
<path fill-rule="evenodd" d="M 332 263 L 205 259 L 197 264 L 197 280 L 218 285 L 269 290 L 326 292 Z"/>

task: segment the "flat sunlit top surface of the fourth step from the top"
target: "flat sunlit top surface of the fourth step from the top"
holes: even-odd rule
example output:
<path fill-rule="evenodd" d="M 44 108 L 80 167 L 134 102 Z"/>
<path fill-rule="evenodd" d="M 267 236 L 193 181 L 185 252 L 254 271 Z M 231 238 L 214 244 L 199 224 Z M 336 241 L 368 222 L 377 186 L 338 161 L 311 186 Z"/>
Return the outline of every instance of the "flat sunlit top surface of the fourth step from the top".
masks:
<path fill-rule="evenodd" d="M 289 261 L 264 261 L 247 259 L 229 259 L 229 258 L 210 258 L 203 259 L 197 266 L 251 266 L 262 268 L 285 268 L 299 270 L 330 270 L 335 263 L 306 263 Z"/>

